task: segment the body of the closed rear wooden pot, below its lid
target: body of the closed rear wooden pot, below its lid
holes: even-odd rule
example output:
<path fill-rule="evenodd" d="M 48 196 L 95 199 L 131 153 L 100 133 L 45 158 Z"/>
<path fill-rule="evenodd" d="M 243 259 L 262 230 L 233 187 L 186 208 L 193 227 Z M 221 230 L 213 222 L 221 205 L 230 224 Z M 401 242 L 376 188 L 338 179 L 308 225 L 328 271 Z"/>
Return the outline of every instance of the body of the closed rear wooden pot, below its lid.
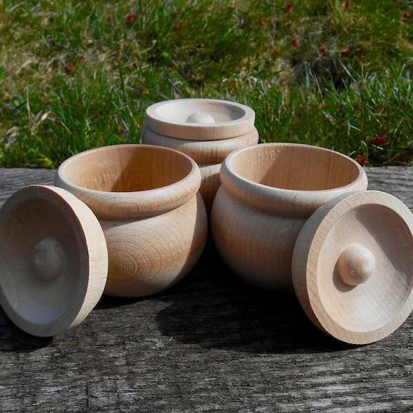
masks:
<path fill-rule="evenodd" d="M 220 187 L 220 167 L 225 157 L 243 147 L 256 145 L 259 134 L 255 127 L 241 136 L 217 140 L 198 140 L 187 138 L 173 138 L 156 133 L 147 125 L 142 128 L 141 140 L 143 144 L 158 145 L 176 149 L 190 156 L 197 162 L 201 171 L 200 193 L 204 200 L 207 212 L 211 211 L 215 193 Z"/>

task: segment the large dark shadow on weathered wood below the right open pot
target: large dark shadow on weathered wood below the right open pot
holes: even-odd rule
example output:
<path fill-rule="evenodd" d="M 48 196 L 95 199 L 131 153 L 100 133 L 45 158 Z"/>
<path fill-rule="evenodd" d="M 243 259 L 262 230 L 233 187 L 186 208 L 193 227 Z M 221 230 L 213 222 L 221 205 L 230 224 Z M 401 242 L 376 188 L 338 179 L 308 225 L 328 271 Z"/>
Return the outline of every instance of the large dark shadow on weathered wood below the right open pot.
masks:
<path fill-rule="evenodd" d="M 271 293 L 243 282 L 211 250 L 159 299 L 169 302 L 157 315 L 162 334 L 202 348 L 283 354 L 354 347 L 318 330 L 293 292 Z"/>

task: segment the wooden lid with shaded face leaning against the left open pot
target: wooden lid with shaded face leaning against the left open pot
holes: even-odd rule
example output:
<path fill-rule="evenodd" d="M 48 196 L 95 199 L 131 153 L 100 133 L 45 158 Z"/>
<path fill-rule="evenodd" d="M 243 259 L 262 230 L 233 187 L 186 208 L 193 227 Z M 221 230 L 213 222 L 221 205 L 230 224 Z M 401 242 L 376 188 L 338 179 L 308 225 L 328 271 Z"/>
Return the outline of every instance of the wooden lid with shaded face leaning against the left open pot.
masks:
<path fill-rule="evenodd" d="M 0 304 L 19 328 L 50 337 L 79 324 L 107 279 L 107 246 L 92 211 L 57 187 L 33 185 L 0 209 Z"/>

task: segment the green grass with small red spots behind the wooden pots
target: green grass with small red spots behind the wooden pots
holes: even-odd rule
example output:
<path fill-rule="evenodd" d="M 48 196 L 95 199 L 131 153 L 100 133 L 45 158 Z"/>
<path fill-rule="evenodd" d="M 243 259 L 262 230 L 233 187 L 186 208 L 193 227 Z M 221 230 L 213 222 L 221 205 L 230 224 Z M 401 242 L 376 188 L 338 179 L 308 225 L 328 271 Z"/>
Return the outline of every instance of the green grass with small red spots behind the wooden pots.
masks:
<path fill-rule="evenodd" d="M 145 109 L 175 98 L 244 103 L 265 142 L 411 165 L 410 14 L 395 0 L 0 0 L 0 167 L 139 142 Z"/>

